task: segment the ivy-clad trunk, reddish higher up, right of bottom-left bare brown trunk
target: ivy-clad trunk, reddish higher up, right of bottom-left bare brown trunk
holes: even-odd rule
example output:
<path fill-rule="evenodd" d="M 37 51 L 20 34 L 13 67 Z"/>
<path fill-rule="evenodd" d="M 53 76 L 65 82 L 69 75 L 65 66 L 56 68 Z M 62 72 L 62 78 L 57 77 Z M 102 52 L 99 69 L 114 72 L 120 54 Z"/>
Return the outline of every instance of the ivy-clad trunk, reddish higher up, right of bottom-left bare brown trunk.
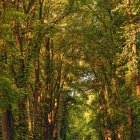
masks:
<path fill-rule="evenodd" d="M 18 5 L 18 3 L 17 3 Z M 24 51 L 22 46 L 22 40 L 20 37 L 20 25 L 18 22 L 14 21 L 14 35 L 16 39 L 16 46 L 19 50 L 18 62 L 19 68 L 18 73 L 15 75 L 16 86 L 18 88 L 25 88 L 25 62 L 24 62 Z M 24 96 L 24 95 L 23 95 Z M 26 97 L 24 96 L 22 99 L 18 101 L 18 110 L 19 110 L 19 124 L 18 124 L 18 136 L 20 140 L 24 140 L 28 133 L 28 124 L 27 124 L 27 114 L 26 114 Z"/>

